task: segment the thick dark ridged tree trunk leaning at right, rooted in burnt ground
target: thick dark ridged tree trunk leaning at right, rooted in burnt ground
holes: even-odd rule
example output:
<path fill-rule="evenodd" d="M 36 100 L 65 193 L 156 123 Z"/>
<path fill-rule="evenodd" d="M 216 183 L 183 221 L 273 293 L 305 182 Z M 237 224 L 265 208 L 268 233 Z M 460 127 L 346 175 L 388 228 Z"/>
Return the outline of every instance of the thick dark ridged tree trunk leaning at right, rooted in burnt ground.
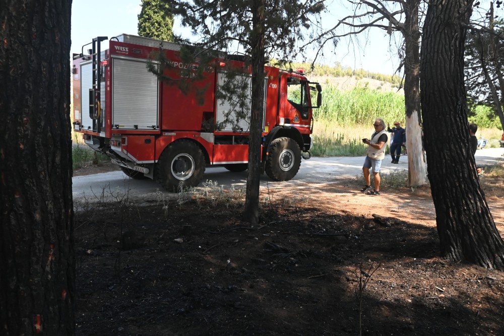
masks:
<path fill-rule="evenodd" d="M 433 0 L 428 7 L 420 57 L 427 171 L 442 255 L 504 269 L 504 244 L 469 144 L 464 24 L 471 7 L 472 0 Z"/>

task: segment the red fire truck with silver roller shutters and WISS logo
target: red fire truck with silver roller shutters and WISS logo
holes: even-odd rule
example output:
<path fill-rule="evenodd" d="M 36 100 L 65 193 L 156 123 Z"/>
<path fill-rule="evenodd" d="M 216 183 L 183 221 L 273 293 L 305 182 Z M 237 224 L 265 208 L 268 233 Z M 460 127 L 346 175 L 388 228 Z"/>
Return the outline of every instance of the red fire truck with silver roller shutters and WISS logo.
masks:
<path fill-rule="evenodd" d="M 229 64 L 245 69 L 244 62 L 223 55 L 205 65 L 203 78 L 190 79 L 183 71 L 198 64 L 184 63 L 178 44 L 122 34 L 102 51 L 106 40 L 93 38 L 87 53 L 85 45 L 73 57 L 74 130 L 83 133 L 87 145 L 128 176 L 155 179 L 168 190 L 181 182 L 198 185 L 206 166 L 247 169 L 250 105 L 248 118 L 229 124 L 224 120 L 237 113 L 236 104 L 219 95 L 229 80 Z M 159 71 L 152 55 L 160 50 L 171 65 L 163 74 L 186 81 L 185 89 L 147 69 L 149 64 Z M 312 108 L 320 107 L 322 88 L 301 71 L 266 66 L 265 72 L 261 167 L 272 179 L 286 181 L 298 172 L 301 157 L 309 158 Z M 250 71 L 238 77 L 250 98 Z"/>

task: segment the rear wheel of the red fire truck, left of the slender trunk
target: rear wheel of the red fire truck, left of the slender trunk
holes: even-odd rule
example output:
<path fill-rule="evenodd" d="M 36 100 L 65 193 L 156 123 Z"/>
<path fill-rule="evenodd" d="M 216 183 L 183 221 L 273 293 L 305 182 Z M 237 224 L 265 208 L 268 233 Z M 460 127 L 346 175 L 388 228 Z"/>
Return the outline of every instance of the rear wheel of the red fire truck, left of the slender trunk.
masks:
<path fill-rule="evenodd" d="M 154 179 L 168 191 L 195 187 L 205 173 L 205 157 L 200 147 L 190 140 L 179 140 L 166 147 L 154 167 Z"/>

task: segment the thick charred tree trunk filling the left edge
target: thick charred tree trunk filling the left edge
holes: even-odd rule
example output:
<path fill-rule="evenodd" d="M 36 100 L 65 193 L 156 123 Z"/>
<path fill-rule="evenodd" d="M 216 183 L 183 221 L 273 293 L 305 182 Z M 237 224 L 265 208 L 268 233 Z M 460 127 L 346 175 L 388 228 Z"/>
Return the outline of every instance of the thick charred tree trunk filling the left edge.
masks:
<path fill-rule="evenodd" d="M 0 334 L 74 334 L 72 1 L 0 0 Z"/>

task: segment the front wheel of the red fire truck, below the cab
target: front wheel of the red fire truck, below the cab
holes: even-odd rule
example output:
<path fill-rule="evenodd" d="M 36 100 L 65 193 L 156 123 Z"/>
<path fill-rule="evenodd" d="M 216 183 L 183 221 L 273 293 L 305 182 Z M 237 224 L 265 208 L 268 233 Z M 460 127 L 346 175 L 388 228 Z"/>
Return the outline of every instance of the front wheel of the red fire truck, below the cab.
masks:
<path fill-rule="evenodd" d="M 266 158 L 266 174 L 277 181 L 288 181 L 296 176 L 301 166 L 301 149 L 291 138 L 271 142 Z"/>

